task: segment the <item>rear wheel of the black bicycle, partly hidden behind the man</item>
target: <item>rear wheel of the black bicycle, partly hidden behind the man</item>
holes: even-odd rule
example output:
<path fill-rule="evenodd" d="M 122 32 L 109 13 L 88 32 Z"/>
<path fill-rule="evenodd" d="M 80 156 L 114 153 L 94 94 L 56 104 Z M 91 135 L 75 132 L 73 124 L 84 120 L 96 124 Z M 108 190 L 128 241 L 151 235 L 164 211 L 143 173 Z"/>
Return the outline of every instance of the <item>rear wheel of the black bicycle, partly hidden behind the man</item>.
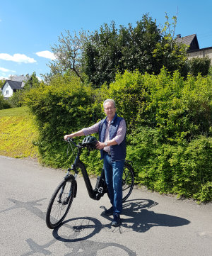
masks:
<path fill-rule="evenodd" d="M 122 176 L 122 201 L 129 198 L 134 188 L 134 170 L 129 163 L 124 162 L 124 172 Z"/>

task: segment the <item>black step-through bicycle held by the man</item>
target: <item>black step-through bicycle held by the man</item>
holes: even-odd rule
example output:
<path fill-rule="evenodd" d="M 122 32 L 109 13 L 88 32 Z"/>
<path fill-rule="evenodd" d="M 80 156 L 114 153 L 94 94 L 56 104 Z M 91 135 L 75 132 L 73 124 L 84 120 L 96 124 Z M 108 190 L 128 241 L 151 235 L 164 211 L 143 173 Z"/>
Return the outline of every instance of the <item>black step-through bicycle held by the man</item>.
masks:
<path fill-rule="evenodd" d="M 90 141 L 88 140 L 88 138 L 93 138 L 93 143 L 88 143 L 88 141 Z M 64 221 L 64 218 L 66 217 L 69 209 L 71 208 L 73 198 L 75 198 L 77 194 L 76 178 L 78 176 L 78 172 L 81 171 L 81 173 L 83 174 L 83 179 L 91 199 L 100 200 L 100 198 L 104 196 L 105 193 L 107 193 L 107 184 L 105 182 L 105 169 L 102 168 L 101 175 L 100 177 L 98 176 L 95 189 L 93 189 L 90 183 L 90 179 L 88 177 L 86 166 L 80 160 L 83 148 L 88 149 L 88 155 L 90 154 L 91 150 L 95 149 L 95 142 L 97 141 L 95 137 L 87 136 L 83 139 L 83 142 L 78 143 L 78 145 L 71 138 L 68 138 L 68 140 L 66 141 L 69 143 L 69 145 L 74 145 L 77 148 L 77 154 L 73 164 L 71 165 L 71 168 L 68 168 L 66 176 L 60 182 L 57 189 L 55 189 L 49 201 L 49 205 L 47 207 L 46 223 L 47 227 L 51 229 L 57 228 L 61 224 L 61 222 Z M 74 172 L 74 175 L 71 174 L 71 171 Z M 122 177 L 123 202 L 129 198 L 133 187 L 134 170 L 131 166 L 131 161 L 125 160 L 124 172 Z M 108 193 L 107 196 L 110 198 Z"/>

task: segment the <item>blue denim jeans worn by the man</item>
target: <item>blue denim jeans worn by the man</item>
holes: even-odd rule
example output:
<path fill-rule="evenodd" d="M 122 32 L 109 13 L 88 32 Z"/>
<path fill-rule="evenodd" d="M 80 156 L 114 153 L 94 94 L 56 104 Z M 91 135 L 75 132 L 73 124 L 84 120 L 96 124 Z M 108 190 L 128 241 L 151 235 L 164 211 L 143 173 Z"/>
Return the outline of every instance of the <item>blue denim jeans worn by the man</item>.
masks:
<path fill-rule="evenodd" d="M 110 203 L 114 213 L 122 213 L 122 175 L 124 160 L 112 161 L 110 155 L 104 154 L 105 181 L 107 184 Z"/>

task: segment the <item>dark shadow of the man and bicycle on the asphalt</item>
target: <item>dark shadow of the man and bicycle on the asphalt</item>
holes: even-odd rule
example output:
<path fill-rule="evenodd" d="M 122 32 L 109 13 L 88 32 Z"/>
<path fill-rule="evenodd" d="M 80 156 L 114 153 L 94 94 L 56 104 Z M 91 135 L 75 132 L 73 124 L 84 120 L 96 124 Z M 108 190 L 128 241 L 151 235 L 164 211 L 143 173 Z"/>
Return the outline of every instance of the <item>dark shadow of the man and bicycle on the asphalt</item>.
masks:
<path fill-rule="evenodd" d="M 55 239 L 64 242 L 78 242 L 91 238 L 93 235 L 99 233 L 103 228 L 119 233 L 127 232 L 127 230 L 144 233 L 153 227 L 178 227 L 188 225 L 190 223 L 185 218 L 163 213 L 155 213 L 154 211 L 149 210 L 157 205 L 157 202 L 148 199 L 134 199 L 126 201 L 123 205 L 121 227 L 112 228 L 110 226 L 112 217 L 105 216 L 102 212 L 101 216 L 107 218 L 109 224 L 102 225 L 97 218 L 72 218 L 62 223 L 59 228 L 54 229 L 53 235 Z M 101 208 L 105 207 L 102 206 Z"/>

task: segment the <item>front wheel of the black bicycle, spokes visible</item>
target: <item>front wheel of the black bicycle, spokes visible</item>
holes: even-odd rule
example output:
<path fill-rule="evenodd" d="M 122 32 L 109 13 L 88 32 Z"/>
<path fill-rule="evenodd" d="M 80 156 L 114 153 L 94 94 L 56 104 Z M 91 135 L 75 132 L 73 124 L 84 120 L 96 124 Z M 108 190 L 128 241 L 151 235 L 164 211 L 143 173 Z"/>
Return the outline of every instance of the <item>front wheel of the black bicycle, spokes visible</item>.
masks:
<path fill-rule="evenodd" d="M 75 180 L 73 177 L 64 179 L 55 189 L 47 208 L 46 223 L 48 228 L 57 228 L 66 217 L 71 207 Z"/>

